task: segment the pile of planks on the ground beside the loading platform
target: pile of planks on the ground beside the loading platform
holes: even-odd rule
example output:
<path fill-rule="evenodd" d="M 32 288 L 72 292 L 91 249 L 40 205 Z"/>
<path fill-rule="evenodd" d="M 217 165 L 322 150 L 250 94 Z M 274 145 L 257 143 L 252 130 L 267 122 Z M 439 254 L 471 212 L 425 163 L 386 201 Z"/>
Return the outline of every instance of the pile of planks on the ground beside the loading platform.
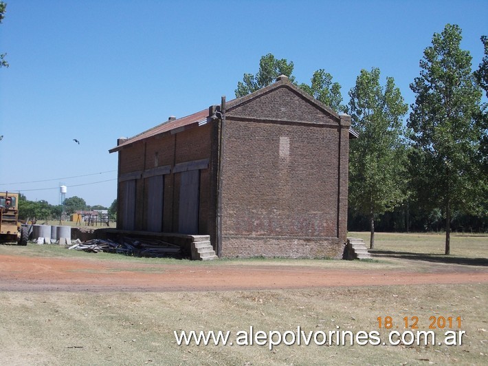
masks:
<path fill-rule="evenodd" d="M 181 248 L 157 239 L 122 237 L 118 241 L 93 239 L 70 246 L 69 249 L 85 252 L 109 252 L 134 257 L 181 257 Z"/>

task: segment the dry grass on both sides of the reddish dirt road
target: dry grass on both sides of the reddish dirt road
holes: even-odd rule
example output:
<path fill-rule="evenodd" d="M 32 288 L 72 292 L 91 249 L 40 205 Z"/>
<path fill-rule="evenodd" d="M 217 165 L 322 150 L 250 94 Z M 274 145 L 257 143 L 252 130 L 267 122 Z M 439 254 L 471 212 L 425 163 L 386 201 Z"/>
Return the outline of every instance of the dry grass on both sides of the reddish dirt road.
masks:
<path fill-rule="evenodd" d="M 367 233 L 349 236 L 368 237 Z M 287 259 L 190 262 L 192 266 L 253 266 L 263 263 L 324 268 L 408 268 L 423 272 L 432 261 L 461 263 L 456 268 L 488 266 L 487 236 L 452 238 L 453 255 L 445 257 L 442 235 L 377 234 L 373 261 Z M 89 257 L 93 261 L 165 263 L 174 259 L 142 259 L 71 252 L 58 246 L 0 246 L 0 254 Z M 0 360 L 5 365 L 399 365 L 488 364 L 487 283 L 422 286 L 368 286 L 307 290 L 206 292 L 0 292 Z M 392 318 L 403 332 L 412 317 L 418 330 L 432 320 L 461 317 L 462 345 L 177 345 L 173 331 L 304 332 L 378 331 L 381 341 L 390 330 L 378 318 Z M 442 324 L 440 324 L 442 325 Z M 439 338 L 438 338 L 439 339 Z M 319 339 L 320 340 L 320 339 Z M 408 342 L 407 342 L 408 343 Z"/>

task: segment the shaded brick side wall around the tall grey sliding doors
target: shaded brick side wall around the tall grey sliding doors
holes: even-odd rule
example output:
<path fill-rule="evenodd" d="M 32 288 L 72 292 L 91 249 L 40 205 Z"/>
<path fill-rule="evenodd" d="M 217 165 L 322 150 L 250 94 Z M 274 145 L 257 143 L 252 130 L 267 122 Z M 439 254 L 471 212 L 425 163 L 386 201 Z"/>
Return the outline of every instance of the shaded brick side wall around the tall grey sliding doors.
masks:
<path fill-rule="evenodd" d="M 199 233 L 213 235 L 215 230 L 215 195 L 211 193 L 213 186 L 211 140 L 215 132 L 213 123 L 201 127 L 192 127 L 179 133 L 165 133 L 136 142 L 132 146 L 119 151 L 119 176 L 126 173 L 144 172 L 160 166 L 170 166 L 171 173 L 164 175 L 164 211 L 163 231 L 178 232 L 179 214 L 179 183 L 181 173 L 173 173 L 175 164 L 193 160 L 209 159 L 209 168 L 202 169 L 199 191 Z M 144 178 L 136 182 L 135 230 L 146 230 L 147 215 L 145 206 L 151 197 L 147 196 L 148 184 Z M 119 207 L 122 196 L 118 195 Z M 213 215 L 213 217 L 212 217 Z"/>

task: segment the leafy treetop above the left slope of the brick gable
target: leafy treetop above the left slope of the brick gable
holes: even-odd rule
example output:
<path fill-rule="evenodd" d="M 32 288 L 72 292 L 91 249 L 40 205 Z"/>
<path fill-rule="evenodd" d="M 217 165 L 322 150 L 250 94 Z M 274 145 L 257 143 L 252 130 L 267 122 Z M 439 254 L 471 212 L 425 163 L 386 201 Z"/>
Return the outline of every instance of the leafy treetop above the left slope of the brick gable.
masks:
<path fill-rule="evenodd" d="M 256 75 L 244 74 L 243 81 L 237 83 L 236 98 L 247 96 L 247 94 L 271 85 L 280 75 L 288 76 L 293 83 L 295 78 L 291 76 L 292 72 L 293 61 L 288 62 L 286 58 L 278 60 L 272 54 L 262 56 L 259 61 L 258 73 Z"/>

